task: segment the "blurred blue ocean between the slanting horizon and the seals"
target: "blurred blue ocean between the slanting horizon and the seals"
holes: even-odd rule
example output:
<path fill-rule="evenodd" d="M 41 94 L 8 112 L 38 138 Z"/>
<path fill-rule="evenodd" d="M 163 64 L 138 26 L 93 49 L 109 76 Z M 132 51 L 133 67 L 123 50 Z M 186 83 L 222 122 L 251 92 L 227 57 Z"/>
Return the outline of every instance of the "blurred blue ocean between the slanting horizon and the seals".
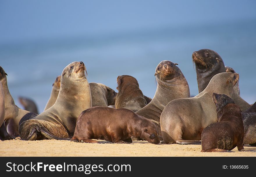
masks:
<path fill-rule="evenodd" d="M 0 65 L 8 74 L 8 87 L 17 106 L 18 96 L 31 98 L 42 112 L 52 83 L 64 67 L 83 61 L 88 81 L 103 83 L 116 92 L 116 78 L 134 76 L 143 94 L 153 98 L 157 88 L 154 72 L 158 63 L 170 60 L 186 77 L 191 95 L 198 94 L 194 51 L 218 52 L 225 65 L 239 73 L 240 95 L 256 101 L 256 19 L 179 25 L 87 36 L 35 39 L 0 45 Z"/>

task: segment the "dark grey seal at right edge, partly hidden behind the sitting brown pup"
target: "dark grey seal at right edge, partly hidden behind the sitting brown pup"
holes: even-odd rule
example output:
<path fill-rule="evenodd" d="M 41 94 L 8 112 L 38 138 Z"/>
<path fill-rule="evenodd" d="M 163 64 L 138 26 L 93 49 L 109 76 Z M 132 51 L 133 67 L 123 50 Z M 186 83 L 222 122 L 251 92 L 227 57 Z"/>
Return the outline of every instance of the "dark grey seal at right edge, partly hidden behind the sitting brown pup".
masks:
<path fill-rule="evenodd" d="M 217 108 L 217 118 L 222 115 L 223 108 L 228 104 L 234 104 L 232 98 L 224 94 L 215 94 L 214 103 Z M 256 143 L 256 113 L 255 112 L 242 112 L 244 137 L 243 144 Z"/>

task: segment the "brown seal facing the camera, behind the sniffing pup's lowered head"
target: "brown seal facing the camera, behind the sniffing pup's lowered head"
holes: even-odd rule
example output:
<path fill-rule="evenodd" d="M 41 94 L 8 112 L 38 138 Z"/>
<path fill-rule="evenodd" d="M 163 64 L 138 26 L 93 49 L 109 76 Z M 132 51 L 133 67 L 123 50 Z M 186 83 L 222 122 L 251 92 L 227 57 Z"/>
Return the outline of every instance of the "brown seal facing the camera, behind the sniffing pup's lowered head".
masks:
<path fill-rule="evenodd" d="M 152 101 L 136 114 L 153 121 L 161 136 L 160 115 L 164 107 L 177 98 L 188 98 L 190 96 L 189 84 L 182 74 L 177 63 L 168 60 L 161 61 L 155 70 L 157 79 L 157 91 Z"/>

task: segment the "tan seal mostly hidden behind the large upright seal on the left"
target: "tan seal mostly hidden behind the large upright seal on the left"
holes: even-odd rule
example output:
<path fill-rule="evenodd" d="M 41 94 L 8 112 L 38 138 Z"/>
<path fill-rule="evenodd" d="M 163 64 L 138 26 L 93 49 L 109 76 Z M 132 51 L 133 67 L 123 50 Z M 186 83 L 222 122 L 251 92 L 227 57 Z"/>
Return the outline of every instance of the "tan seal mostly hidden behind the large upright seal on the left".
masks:
<path fill-rule="evenodd" d="M 51 89 L 51 95 L 50 98 L 47 102 L 47 104 L 45 105 L 45 110 L 49 109 L 52 105 L 54 105 L 59 91 L 60 91 L 60 87 L 61 87 L 61 76 L 56 77 L 54 83 L 52 84 L 52 89 Z"/>

